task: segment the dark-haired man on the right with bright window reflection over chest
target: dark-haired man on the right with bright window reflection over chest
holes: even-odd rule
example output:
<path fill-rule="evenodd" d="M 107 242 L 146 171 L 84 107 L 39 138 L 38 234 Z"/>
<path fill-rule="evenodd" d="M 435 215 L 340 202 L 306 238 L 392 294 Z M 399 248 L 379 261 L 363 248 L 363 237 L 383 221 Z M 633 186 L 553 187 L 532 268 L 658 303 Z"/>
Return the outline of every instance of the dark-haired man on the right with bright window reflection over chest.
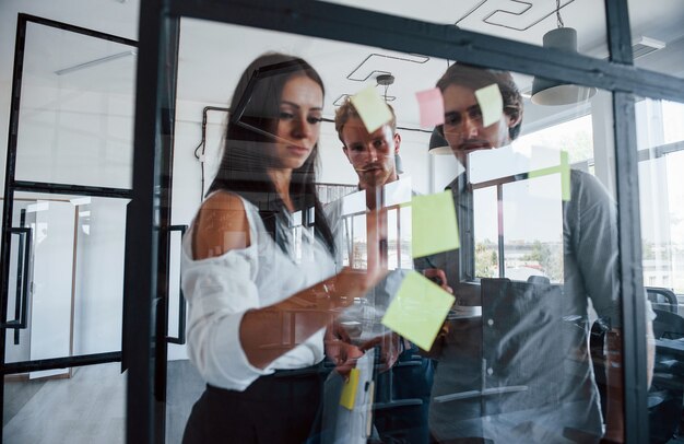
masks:
<path fill-rule="evenodd" d="M 499 119 L 485 126 L 463 117 L 477 105 L 474 92 L 490 84 L 504 97 Z M 559 147 L 516 147 L 523 108 L 534 116 L 534 107 L 508 73 L 456 63 L 437 85 L 445 115 L 461 115 L 459 125 L 445 122 L 444 135 L 467 166 L 451 184 L 459 225 L 467 229 L 459 257 L 435 262 L 459 268 L 449 283 L 460 305 L 481 305 L 482 316 L 447 323 L 431 351 L 439 361 L 431 432 L 438 442 L 594 442 L 604 430 L 621 440 L 622 394 L 610 383 L 622 377 L 614 202 L 597 178 L 569 167 Z M 469 276 L 473 262 L 475 273 L 484 272 L 482 256 L 493 261 L 485 236 L 496 236 L 503 255 L 496 274 L 504 279 Z M 592 360 L 587 344 L 597 314 L 608 325 L 598 336 L 606 338 L 608 355 L 600 359 L 609 366 L 594 373 L 599 357 Z M 594 374 L 609 381 L 604 397 Z"/>

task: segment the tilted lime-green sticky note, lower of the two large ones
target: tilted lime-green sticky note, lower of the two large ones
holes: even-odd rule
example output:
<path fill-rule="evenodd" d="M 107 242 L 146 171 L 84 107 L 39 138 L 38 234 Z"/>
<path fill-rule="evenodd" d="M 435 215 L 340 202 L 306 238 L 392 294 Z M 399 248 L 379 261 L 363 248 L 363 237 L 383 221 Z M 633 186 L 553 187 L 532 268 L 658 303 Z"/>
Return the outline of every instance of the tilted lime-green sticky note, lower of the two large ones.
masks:
<path fill-rule="evenodd" d="M 453 305 L 455 297 L 439 285 L 411 271 L 387 307 L 382 325 L 429 350 Z"/>

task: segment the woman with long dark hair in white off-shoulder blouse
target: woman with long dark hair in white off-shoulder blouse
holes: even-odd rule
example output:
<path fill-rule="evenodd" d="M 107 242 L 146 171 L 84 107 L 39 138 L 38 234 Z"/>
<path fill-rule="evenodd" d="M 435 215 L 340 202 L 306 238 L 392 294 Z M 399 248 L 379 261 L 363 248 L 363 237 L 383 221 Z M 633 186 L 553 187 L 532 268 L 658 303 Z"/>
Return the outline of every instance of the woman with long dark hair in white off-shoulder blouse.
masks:
<path fill-rule="evenodd" d="M 279 54 L 233 94 L 219 172 L 184 238 L 188 352 L 207 381 L 185 443 L 306 441 L 325 328 L 382 277 L 375 214 L 368 269 L 335 270 L 314 184 L 322 106 L 318 73 Z"/>

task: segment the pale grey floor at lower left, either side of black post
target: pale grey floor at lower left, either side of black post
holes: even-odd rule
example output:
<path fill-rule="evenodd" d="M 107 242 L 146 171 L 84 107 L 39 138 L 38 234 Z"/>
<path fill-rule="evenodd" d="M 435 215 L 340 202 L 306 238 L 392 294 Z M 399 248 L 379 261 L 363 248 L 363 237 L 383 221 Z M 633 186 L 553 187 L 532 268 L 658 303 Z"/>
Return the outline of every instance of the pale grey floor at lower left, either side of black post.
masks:
<path fill-rule="evenodd" d="M 5 383 L 3 443 L 123 443 L 126 375 L 120 366 L 78 367 L 69 379 Z M 192 405 L 203 390 L 204 383 L 188 361 L 168 363 L 167 443 L 180 443 Z"/>

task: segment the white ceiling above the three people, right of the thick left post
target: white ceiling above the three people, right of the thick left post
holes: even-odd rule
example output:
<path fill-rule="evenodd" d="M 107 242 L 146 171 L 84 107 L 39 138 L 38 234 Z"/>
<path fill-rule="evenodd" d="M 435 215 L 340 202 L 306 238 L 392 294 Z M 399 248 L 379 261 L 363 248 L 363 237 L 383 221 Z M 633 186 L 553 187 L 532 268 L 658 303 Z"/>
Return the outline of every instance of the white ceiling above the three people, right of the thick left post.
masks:
<path fill-rule="evenodd" d="M 555 2 L 552 0 L 433 0 L 425 2 L 376 0 L 339 0 L 337 3 L 364 8 L 428 22 L 453 24 L 518 42 L 541 45 L 543 35 L 557 26 Z M 529 4 L 531 4 L 531 7 Z M 605 14 L 598 0 L 562 0 L 562 19 L 578 32 L 581 54 L 606 57 Z M 656 7 L 657 5 L 657 7 Z M 665 43 L 684 42 L 684 3 L 681 0 L 629 1 L 635 38 L 648 35 Z M 516 15 L 519 14 L 519 15 Z M 350 30 L 353 33 L 354 30 Z M 677 45 L 675 45 L 677 47 Z M 679 57 L 660 57 L 661 62 L 676 66 L 684 73 L 684 52 Z M 391 72 L 396 82 L 388 96 L 400 125 L 418 126 L 418 108 L 414 94 L 433 87 L 447 67 L 446 60 L 389 51 L 293 34 L 245 28 L 213 22 L 184 20 L 181 23 L 178 96 L 182 100 L 225 105 L 241 70 L 258 55 L 269 50 L 297 55 L 309 61 L 321 74 L 327 87 L 326 115 L 334 113 L 333 102 L 343 94 L 354 94 L 368 84 L 376 84 L 378 72 Z M 639 60 L 647 68 L 656 54 Z M 676 61 L 674 61 L 676 60 Z M 423 61 L 423 62 L 420 62 Z M 357 69 L 358 68 L 358 69 Z M 672 67 L 668 72 L 673 72 Z M 352 79 L 364 79 L 365 82 Z M 352 79 L 347 79 L 351 77 Z M 521 90 L 529 90 L 531 78 L 516 75 Z M 378 86 L 380 93 L 384 87 Z M 531 109 L 530 109 L 531 110 Z M 562 109 L 558 109 L 562 110 Z M 547 114 L 545 109 L 543 114 Z M 529 113 L 528 116 L 533 116 Z M 528 124 L 530 124 L 528 121 Z"/>

